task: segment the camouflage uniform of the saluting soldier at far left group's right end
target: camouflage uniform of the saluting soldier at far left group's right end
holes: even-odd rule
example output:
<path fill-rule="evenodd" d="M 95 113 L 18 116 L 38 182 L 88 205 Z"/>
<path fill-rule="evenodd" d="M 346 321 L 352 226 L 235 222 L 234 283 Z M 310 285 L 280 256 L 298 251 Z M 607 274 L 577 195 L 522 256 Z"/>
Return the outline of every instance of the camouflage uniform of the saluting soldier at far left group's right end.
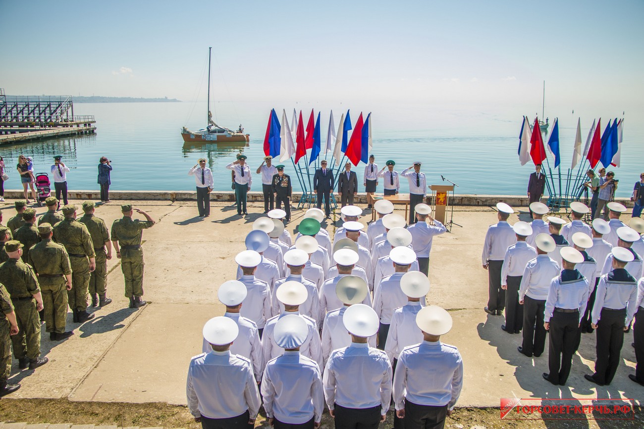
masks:
<path fill-rule="evenodd" d="M 118 241 L 121 254 L 121 270 L 125 277 L 125 296 L 143 296 L 143 230 L 155 224 L 123 216 L 112 224 L 112 241 Z"/>

